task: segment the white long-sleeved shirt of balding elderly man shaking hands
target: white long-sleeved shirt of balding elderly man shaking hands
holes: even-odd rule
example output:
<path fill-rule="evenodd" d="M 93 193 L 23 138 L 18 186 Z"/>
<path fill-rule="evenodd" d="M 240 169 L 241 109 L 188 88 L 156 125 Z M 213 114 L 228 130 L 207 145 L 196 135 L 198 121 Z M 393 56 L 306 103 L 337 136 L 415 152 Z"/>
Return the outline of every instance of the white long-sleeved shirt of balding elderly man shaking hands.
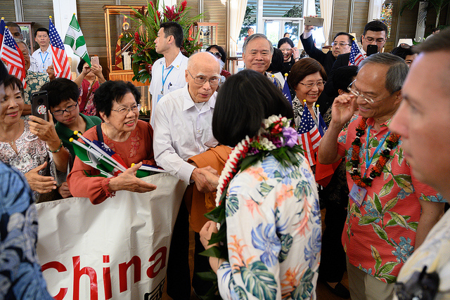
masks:
<path fill-rule="evenodd" d="M 215 147 L 212 135 L 214 92 L 203 107 L 195 106 L 188 86 L 162 97 L 155 110 L 153 152 L 159 167 L 182 181 L 189 182 L 195 167 L 188 158 Z"/>

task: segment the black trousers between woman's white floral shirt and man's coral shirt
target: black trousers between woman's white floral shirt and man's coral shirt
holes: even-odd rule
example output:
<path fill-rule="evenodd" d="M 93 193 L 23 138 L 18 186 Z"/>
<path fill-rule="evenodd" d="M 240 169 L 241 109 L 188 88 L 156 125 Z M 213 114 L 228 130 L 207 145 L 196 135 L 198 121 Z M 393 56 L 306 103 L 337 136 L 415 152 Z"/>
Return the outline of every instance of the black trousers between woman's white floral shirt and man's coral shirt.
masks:
<path fill-rule="evenodd" d="M 341 236 L 347 218 L 346 204 L 326 203 L 325 231 L 322 236 L 319 276 L 327 282 L 340 282 L 347 269 Z"/>

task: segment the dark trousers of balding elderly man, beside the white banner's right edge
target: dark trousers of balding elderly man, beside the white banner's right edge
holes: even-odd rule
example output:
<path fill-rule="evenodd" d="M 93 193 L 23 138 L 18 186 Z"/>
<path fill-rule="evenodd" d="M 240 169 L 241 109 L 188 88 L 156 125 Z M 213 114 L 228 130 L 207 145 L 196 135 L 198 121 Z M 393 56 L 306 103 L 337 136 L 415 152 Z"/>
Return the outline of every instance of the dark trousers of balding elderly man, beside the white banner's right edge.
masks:
<path fill-rule="evenodd" d="M 189 214 L 186 204 L 176 216 L 167 263 L 167 294 L 172 299 L 191 298 L 191 273 L 189 272 Z"/>

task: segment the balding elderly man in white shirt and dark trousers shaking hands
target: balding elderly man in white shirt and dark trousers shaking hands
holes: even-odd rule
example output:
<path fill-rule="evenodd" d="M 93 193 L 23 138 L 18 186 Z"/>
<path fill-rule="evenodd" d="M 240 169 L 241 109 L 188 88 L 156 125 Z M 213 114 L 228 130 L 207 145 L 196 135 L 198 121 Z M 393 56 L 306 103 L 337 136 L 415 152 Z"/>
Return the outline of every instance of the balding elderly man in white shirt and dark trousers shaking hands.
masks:
<path fill-rule="evenodd" d="M 207 183 L 199 168 L 186 161 L 218 144 L 212 135 L 212 114 L 220 71 L 219 61 L 211 53 L 194 54 L 185 71 L 188 84 L 162 97 L 155 110 L 153 152 L 158 166 L 183 181 L 195 182 L 203 192 L 214 191 L 215 187 Z M 210 167 L 203 169 L 217 173 Z M 167 294 L 173 299 L 189 299 L 191 294 L 188 226 L 186 205 L 182 203 L 167 266 Z"/>

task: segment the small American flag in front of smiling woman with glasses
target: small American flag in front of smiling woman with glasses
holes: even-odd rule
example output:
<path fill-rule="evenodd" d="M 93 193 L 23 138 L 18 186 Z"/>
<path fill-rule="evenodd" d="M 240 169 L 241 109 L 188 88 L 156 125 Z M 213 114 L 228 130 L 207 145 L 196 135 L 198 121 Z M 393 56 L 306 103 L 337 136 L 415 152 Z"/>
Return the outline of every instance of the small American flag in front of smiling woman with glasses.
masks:
<path fill-rule="evenodd" d="M 307 158 L 309 165 L 316 164 L 314 152 L 319 148 L 321 142 L 321 134 L 317 129 L 314 119 L 311 117 L 311 112 L 304 103 L 302 121 L 300 122 L 300 128 L 297 131 L 300 140 L 302 141 L 302 148 L 304 150 L 304 156 Z"/>

